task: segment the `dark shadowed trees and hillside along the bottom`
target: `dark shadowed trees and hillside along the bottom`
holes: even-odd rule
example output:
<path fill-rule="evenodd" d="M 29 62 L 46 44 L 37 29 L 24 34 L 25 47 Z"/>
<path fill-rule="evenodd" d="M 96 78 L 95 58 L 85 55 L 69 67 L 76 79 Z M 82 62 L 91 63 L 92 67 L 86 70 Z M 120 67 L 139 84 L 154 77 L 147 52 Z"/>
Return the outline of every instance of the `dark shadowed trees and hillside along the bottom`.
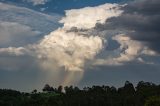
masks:
<path fill-rule="evenodd" d="M 46 84 L 43 92 L 24 93 L 0 89 L 0 106 L 160 106 L 160 85 L 129 81 L 116 89 L 109 86 L 53 88 Z"/>

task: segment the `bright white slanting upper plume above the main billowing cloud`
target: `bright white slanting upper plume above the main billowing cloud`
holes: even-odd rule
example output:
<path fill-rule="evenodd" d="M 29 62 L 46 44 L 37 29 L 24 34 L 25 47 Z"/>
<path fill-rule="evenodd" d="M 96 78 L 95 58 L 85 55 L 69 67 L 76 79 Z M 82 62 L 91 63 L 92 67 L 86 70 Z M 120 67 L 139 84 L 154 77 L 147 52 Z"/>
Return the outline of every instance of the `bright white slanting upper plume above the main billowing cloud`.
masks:
<path fill-rule="evenodd" d="M 93 28 L 96 23 L 105 23 L 111 17 L 119 16 L 123 11 L 118 4 L 104 4 L 96 7 L 85 7 L 82 9 L 66 10 L 66 17 L 60 21 L 64 28 L 79 29 Z"/>

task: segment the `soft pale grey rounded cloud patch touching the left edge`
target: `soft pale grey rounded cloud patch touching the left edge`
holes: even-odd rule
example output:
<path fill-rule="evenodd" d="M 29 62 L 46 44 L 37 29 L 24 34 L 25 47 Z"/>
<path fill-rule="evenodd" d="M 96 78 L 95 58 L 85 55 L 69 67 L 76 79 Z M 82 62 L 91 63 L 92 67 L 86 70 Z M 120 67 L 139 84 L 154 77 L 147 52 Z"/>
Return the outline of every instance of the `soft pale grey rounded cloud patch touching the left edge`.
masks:
<path fill-rule="evenodd" d="M 2 46 L 20 46 L 27 43 L 27 39 L 39 35 L 39 31 L 34 31 L 26 25 L 15 22 L 0 21 L 0 45 Z"/>

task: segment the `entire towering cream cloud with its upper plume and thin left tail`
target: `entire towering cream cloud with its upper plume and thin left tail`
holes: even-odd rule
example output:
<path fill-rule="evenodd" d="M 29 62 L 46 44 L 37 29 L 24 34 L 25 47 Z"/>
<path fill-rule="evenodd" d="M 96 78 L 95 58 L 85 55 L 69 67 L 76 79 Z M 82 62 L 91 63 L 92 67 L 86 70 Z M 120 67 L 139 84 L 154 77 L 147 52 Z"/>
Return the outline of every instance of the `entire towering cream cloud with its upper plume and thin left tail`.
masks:
<path fill-rule="evenodd" d="M 36 56 L 44 67 L 56 64 L 68 71 L 83 71 L 85 62 L 94 59 L 103 49 L 104 40 L 99 35 L 91 35 L 87 31 L 80 33 L 80 29 L 90 29 L 97 23 L 103 24 L 110 17 L 119 16 L 122 13 L 119 8 L 118 4 L 104 4 L 67 10 L 66 17 L 60 21 L 64 26 L 46 35 L 38 44 L 20 49 L 2 48 L 1 51 Z M 73 27 L 76 27 L 78 32 L 72 31 Z"/>

